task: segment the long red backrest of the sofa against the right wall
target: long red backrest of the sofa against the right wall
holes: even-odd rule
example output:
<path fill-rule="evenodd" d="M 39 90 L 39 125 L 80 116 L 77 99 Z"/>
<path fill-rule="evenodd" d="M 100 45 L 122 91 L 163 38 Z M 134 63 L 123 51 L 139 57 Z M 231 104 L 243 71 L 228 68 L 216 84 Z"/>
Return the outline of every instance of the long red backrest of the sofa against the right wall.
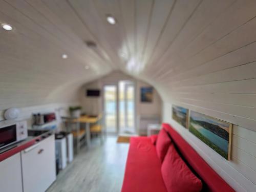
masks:
<path fill-rule="evenodd" d="M 204 159 L 178 134 L 172 126 L 163 123 L 162 126 L 170 134 L 173 142 L 179 148 L 179 152 L 186 159 L 186 162 L 195 170 L 203 180 L 206 190 L 212 192 L 234 191 Z"/>

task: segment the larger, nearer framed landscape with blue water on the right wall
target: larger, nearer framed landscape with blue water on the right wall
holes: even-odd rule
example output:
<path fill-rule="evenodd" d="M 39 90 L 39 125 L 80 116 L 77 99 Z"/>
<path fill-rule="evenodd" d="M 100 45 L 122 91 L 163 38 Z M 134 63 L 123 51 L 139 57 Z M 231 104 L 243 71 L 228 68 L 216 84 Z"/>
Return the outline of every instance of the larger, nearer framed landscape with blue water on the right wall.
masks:
<path fill-rule="evenodd" d="M 189 117 L 189 132 L 230 160 L 232 124 L 195 111 Z"/>

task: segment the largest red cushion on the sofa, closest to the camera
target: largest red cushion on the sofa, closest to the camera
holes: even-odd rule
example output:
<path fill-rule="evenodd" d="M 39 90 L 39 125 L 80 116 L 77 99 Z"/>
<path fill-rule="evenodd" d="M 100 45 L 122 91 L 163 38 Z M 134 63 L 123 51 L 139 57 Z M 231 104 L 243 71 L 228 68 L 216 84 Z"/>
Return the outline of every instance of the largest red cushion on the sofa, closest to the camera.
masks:
<path fill-rule="evenodd" d="M 198 192 L 202 189 L 202 181 L 191 172 L 173 144 L 169 146 L 161 171 L 168 192 Z"/>

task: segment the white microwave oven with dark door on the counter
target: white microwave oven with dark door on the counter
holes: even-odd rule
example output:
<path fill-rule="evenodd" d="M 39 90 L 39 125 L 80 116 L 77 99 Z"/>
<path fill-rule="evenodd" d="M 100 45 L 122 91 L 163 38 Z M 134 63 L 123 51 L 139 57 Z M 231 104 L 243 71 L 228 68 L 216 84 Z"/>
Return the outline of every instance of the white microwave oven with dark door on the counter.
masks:
<path fill-rule="evenodd" d="M 0 149 L 28 137 L 27 121 L 0 124 Z"/>

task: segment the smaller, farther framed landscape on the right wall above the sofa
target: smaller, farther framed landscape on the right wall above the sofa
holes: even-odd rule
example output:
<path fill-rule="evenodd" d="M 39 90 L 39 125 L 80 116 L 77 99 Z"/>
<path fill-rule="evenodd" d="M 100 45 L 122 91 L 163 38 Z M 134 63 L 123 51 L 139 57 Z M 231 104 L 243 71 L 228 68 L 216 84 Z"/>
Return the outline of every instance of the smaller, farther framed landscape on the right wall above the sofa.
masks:
<path fill-rule="evenodd" d="M 184 127 L 188 127 L 188 109 L 173 105 L 173 119 Z"/>

